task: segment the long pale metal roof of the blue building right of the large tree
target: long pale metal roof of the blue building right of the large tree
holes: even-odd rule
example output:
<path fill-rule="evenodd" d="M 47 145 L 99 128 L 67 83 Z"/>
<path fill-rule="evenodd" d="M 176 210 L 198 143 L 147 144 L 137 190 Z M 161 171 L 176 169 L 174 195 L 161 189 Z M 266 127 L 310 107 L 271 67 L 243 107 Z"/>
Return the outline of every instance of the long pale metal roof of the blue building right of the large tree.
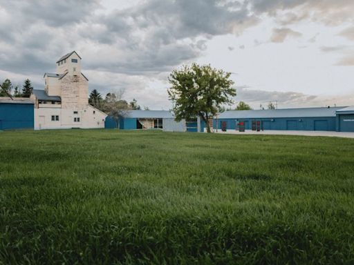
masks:
<path fill-rule="evenodd" d="M 283 108 L 277 110 L 227 110 L 218 115 L 218 119 L 335 117 L 335 112 L 342 108 L 344 107 Z"/>

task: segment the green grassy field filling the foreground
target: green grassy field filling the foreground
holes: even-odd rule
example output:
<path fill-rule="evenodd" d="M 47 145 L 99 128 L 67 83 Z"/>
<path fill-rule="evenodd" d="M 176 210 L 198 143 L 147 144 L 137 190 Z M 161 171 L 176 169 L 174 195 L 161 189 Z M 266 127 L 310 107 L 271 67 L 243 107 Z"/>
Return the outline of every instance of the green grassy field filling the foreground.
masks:
<path fill-rule="evenodd" d="M 0 264 L 353 264 L 354 139 L 0 132 Z"/>

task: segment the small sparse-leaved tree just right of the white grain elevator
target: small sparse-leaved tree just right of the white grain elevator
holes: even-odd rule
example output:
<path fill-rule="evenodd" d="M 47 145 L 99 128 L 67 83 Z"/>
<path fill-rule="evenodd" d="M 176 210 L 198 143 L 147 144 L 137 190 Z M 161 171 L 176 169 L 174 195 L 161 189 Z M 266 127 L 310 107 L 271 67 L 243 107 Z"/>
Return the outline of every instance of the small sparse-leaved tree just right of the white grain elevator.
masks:
<path fill-rule="evenodd" d="M 120 128 L 120 119 L 127 117 L 130 110 L 127 101 L 122 99 L 124 95 L 124 90 L 116 90 L 115 92 L 110 92 L 106 95 L 104 100 L 104 110 L 107 115 L 111 116 L 117 128 Z"/>

